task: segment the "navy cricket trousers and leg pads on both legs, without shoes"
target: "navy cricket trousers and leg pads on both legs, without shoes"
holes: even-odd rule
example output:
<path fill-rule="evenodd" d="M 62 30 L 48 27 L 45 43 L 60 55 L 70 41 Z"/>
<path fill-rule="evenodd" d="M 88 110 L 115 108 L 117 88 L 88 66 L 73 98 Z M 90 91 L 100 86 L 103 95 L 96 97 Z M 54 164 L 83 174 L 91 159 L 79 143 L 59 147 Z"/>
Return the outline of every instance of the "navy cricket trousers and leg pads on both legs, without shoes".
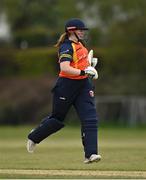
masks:
<path fill-rule="evenodd" d="M 73 105 L 81 121 L 81 135 L 85 157 L 98 154 L 97 148 L 97 113 L 95 98 L 91 81 L 86 78 L 72 80 L 58 78 L 53 93 L 53 106 L 51 116 L 45 118 L 28 136 L 35 143 L 41 142 L 50 134 L 61 129 L 63 121 Z"/>

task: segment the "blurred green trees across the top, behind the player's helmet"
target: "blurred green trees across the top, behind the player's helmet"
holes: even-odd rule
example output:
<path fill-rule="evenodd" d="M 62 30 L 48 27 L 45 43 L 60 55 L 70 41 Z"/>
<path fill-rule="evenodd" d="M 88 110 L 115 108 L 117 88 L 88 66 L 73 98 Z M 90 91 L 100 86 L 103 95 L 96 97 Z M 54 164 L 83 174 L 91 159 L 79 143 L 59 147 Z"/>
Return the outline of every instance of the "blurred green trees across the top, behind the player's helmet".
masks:
<path fill-rule="evenodd" d="M 20 39 L 21 30 L 22 36 L 23 32 L 33 33 L 34 36 L 36 30 L 36 35 L 42 33 L 42 39 L 46 38 L 48 41 L 53 37 L 56 40 L 60 32 L 64 31 L 63 24 L 68 18 L 81 17 L 91 28 L 91 39 L 96 39 L 91 45 L 120 43 L 124 32 L 138 36 L 133 39 L 135 43 L 146 42 L 141 38 L 145 37 L 145 27 L 141 28 L 145 24 L 145 0 L 1 0 L 0 9 L 8 16 L 11 30 L 16 35 L 14 39 L 17 39 L 17 32 Z M 130 31 L 127 32 L 127 25 L 135 28 L 133 35 Z M 128 38 L 129 36 L 127 42 Z M 43 43 L 46 45 L 46 42 Z"/>

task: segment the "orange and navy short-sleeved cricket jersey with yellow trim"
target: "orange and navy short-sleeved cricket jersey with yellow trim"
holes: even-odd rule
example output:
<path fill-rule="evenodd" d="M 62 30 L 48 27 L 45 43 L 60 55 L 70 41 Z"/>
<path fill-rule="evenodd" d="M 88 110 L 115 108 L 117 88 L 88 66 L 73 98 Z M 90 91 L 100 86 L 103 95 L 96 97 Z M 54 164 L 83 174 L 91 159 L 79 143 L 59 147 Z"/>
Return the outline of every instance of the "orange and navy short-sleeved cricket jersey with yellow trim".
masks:
<path fill-rule="evenodd" d="M 70 66 L 84 70 L 89 66 L 88 62 L 88 50 L 83 46 L 81 42 L 73 42 L 66 39 L 59 48 L 59 63 L 63 61 L 69 61 Z M 60 77 L 66 77 L 70 79 L 84 79 L 87 76 L 75 76 L 63 71 L 59 73 Z"/>

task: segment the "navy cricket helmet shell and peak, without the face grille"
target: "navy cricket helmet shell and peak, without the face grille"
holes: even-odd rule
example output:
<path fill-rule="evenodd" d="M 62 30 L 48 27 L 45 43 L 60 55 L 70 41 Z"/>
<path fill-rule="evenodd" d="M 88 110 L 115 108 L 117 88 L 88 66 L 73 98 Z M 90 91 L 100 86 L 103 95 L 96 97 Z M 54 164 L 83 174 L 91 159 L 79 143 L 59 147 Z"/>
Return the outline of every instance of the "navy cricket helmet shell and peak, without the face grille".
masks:
<path fill-rule="evenodd" d="M 68 30 L 88 30 L 88 28 L 82 20 L 73 18 L 69 19 L 65 24 L 65 31 Z"/>

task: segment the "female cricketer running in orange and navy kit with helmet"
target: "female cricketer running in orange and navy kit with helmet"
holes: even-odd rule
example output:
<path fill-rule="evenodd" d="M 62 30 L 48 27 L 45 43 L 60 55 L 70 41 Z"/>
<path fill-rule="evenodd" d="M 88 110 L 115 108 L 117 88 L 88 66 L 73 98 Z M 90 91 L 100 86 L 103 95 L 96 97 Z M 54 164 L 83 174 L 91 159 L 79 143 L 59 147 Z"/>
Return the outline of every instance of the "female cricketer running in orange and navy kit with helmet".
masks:
<path fill-rule="evenodd" d="M 92 79 L 98 73 L 89 61 L 89 53 L 83 40 L 88 28 L 80 19 L 69 19 L 57 44 L 59 77 L 52 89 L 52 113 L 43 119 L 40 125 L 28 135 L 27 151 L 32 153 L 37 144 L 49 135 L 64 127 L 64 119 L 71 106 L 74 106 L 81 122 L 82 144 L 84 147 L 84 163 L 97 162 L 98 154 L 98 119 L 96 113 Z"/>

